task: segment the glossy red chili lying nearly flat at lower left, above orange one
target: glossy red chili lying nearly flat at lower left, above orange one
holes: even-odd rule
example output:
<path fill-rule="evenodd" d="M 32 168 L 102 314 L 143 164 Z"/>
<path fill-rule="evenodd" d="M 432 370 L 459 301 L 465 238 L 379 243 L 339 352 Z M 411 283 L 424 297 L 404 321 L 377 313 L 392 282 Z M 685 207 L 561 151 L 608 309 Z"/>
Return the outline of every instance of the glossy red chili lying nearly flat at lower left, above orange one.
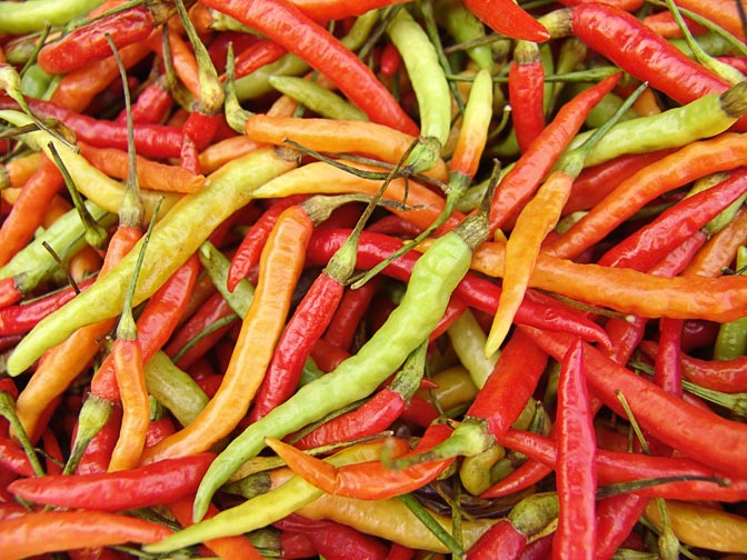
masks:
<path fill-rule="evenodd" d="M 119 472 L 24 478 L 8 489 L 30 502 L 58 508 L 112 512 L 149 508 L 195 492 L 213 458 L 199 453 Z"/>

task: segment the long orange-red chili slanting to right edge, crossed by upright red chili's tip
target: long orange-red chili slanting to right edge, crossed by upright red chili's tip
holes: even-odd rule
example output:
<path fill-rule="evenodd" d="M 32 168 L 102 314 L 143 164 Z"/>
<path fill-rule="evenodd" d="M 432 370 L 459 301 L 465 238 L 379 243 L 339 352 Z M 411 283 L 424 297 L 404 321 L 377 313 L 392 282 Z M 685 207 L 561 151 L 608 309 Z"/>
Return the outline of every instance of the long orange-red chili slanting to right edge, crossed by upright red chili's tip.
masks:
<path fill-rule="evenodd" d="M 532 340 L 540 348 L 549 351 L 551 356 L 560 356 L 565 351 L 567 337 L 545 332 L 540 341 L 541 337 L 538 337 L 540 331 L 526 327 L 521 327 L 521 329 L 529 333 Z M 634 376 L 626 368 L 606 359 L 604 354 L 588 344 L 584 344 L 584 359 L 588 363 L 589 371 L 598 373 L 586 376 L 589 391 L 594 392 L 605 404 L 619 410 L 618 403 L 612 403 L 612 400 L 617 401 L 616 393 L 635 394 L 635 399 L 629 399 L 629 406 L 641 428 L 675 449 L 686 448 L 688 454 L 696 454 L 705 464 L 736 476 L 744 476 L 743 469 L 738 462 L 735 462 L 733 454 L 729 460 L 726 460 L 719 449 L 714 449 L 708 441 L 700 438 L 697 430 L 693 429 L 694 426 L 708 426 L 709 436 L 706 440 L 718 437 L 723 438 L 721 441 L 724 442 L 733 442 L 735 447 L 729 447 L 729 452 L 733 453 L 735 449 L 739 449 L 739 440 L 744 437 L 741 424 L 711 414 L 669 396 L 653 383 Z M 601 371 L 605 374 L 599 374 Z M 669 421 L 661 423 L 653 418 L 658 419 L 660 414 L 666 414 Z M 687 431 L 677 429 L 680 422 L 690 428 Z"/>

